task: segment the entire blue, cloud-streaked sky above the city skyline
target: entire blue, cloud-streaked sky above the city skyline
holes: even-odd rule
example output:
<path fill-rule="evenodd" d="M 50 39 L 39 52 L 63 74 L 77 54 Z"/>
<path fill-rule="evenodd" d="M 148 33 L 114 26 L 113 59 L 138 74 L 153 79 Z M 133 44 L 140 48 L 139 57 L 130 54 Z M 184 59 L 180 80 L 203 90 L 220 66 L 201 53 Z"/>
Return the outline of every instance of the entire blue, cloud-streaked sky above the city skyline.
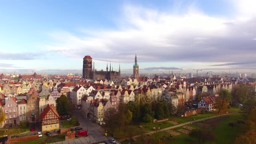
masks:
<path fill-rule="evenodd" d="M 2 0 L 0 71 L 256 71 L 255 0 Z"/>

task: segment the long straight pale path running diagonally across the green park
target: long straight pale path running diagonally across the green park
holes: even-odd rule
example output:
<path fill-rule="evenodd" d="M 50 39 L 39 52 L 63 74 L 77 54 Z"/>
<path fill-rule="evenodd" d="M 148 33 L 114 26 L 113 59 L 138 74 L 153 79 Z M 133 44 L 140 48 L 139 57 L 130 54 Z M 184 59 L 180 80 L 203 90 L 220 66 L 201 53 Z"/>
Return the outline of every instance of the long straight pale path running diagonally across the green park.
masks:
<path fill-rule="evenodd" d="M 178 127 L 181 127 L 181 126 L 184 126 L 184 125 L 189 125 L 189 124 L 192 124 L 192 123 L 197 123 L 197 122 L 200 122 L 200 121 L 209 120 L 209 119 L 216 118 L 216 117 L 222 117 L 222 116 L 225 116 L 225 115 L 232 115 L 232 114 L 235 114 L 235 113 L 238 113 L 238 112 L 230 112 L 230 113 L 227 113 L 227 114 L 221 114 L 221 115 L 216 115 L 216 116 L 212 116 L 212 117 L 205 117 L 205 118 L 198 119 L 198 120 L 192 120 L 192 121 L 187 122 L 187 123 L 181 123 L 179 125 L 173 125 L 173 126 L 168 127 L 168 128 L 162 128 L 158 131 L 151 131 L 151 132 L 145 133 L 145 135 L 150 135 L 150 134 L 158 133 L 158 132 L 161 132 L 161 131 L 168 131 L 168 130 L 171 130 L 173 128 L 178 128 Z M 141 135 L 137 135 L 137 136 L 133 136 L 132 138 L 134 139 L 134 138 L 138 138 L 140 136 Z M 125 139 L 129 139 L 129 138 L 119 139 L 118 141 L 123 142 L 123 141 L 125 141 Z"/>

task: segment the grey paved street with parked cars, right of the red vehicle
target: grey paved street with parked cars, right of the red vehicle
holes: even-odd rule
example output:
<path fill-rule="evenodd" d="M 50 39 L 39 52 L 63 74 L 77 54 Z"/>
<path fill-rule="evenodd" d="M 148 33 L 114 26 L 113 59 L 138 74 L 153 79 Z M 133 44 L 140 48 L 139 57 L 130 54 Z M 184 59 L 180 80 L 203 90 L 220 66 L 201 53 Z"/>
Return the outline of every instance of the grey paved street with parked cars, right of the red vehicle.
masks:
<path fill-rule="evenodd" d="M 88 136 L 80 137 L 79 139 L 60 141 L 60 142 L 56 142 L 56 143 L 52 143 L 52 144 L 93 144 L 93 143 L 97 143 L 97 142 L 101 142 L 101 141 L 105 141 L 105 142 L 107 142 L 107 144 L 112 144 L 109 141 L 109 138 L 104 136 L 104 129 L 101 128 L 100 125 L 83 117 L 81 115 L 80 110 L 74 110 L 73 116 L 77 117 L 77 120 L 80 123 L 79 127 L 83 128 L 85 130 L 86 129 L 88 130 Z"/>

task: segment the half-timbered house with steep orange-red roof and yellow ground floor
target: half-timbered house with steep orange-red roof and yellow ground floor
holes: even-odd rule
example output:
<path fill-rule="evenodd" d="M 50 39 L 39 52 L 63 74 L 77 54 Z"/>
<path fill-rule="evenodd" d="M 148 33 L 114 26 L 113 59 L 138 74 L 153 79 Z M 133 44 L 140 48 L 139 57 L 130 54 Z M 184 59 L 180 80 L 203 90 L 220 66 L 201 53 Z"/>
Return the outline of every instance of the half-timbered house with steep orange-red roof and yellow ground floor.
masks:
<path fill-rule="evenodd" d="M 49 104 L 40 114 L 42 131 L 52 131 L 59 129 L 59 114 Z"/>

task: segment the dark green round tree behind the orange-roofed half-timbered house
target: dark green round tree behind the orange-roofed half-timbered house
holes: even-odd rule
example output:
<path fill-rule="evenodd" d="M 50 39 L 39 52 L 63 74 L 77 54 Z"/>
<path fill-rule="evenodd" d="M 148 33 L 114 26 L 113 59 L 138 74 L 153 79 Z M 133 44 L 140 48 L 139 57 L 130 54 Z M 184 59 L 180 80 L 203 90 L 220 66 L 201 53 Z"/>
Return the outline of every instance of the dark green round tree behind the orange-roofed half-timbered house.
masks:
<path fill-rule="evenodd" d="M 67 115 L 71 112 L 71 105 L 67 96 L 61 95 L 57 98 L 56 104 L 59 115 Z"/>

